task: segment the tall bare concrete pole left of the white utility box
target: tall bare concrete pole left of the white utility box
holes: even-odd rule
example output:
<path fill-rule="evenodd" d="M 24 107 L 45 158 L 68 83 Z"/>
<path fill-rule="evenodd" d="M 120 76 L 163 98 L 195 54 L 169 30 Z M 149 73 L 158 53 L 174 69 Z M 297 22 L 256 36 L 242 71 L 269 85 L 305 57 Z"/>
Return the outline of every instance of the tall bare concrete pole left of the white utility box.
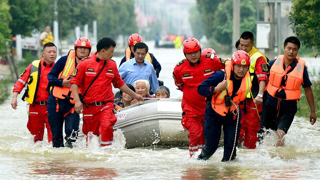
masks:
<path fill-rule="evenodd" d="M 233 0 L 233 31 L 231 47 L 240 38 L 240 0 Z"/>

